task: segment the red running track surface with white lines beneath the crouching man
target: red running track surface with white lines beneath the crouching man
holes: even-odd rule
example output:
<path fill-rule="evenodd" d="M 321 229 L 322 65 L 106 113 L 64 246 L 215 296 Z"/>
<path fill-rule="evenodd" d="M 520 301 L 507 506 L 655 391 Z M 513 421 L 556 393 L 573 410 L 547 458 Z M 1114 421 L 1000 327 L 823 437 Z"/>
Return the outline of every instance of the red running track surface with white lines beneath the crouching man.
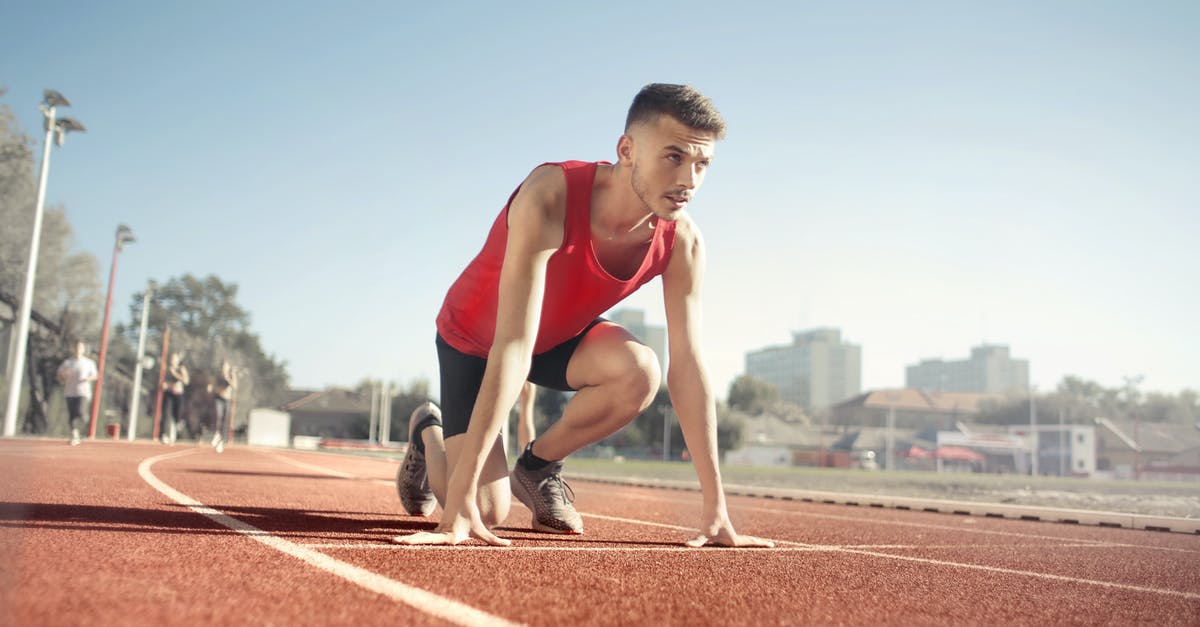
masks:
<path fill-rule="evenodd" d="M 1198 536 L 732 497 L 776 548 L 688 549 L 698 495 L 576 482 L 583 536 L 407 548 L 395 470 L 0 441 L 0 623 L 1200 625 Z"/>

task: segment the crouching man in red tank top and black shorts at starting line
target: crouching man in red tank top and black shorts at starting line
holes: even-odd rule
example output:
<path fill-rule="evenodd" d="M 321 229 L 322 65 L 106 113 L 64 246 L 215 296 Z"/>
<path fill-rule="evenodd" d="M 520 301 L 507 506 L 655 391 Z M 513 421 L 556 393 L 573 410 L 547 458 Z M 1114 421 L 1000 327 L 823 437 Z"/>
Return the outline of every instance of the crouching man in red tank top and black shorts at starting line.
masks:
<path fill-rule="evenodd" d="M 703 494 L 700 535 L 688 544 L 772 545 L 730 522 L 700 356 L 704 245 L 685 208 L 724 135 L 708 97 L 650 84 L 629 108 L 617 163 L 544 163 L 510 196 L 437 318 L 442 407 L 425 404 L 409 418 L 401 501 L 428 515 L 436 498 L 443 516 L 436 531 L 396 542 L 508 545 L 490 527 L 508 516 L 511 496 L 533 512 L 535 530 L 583 531 L 563 459 L 632 422 L 661 378 L 654 352 L 599 316 L 661 275 L 667 386 Z M 527 380 L 576 394 L 510 477 L 498 436 Z"/>

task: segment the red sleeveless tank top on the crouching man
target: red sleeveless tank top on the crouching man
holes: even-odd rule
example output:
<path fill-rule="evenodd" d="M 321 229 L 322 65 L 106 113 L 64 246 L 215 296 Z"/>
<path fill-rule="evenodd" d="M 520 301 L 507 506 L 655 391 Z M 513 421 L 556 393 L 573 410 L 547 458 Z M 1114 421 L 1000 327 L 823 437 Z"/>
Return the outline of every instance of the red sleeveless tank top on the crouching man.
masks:
<path fill-rule="evenodd" d="M 600 265 L 592 249 L 592 185 L 596 163 L 565 161 L 550 165 L 562 167 L 566 175 L 566 223 L 563 244 L 551 255 L 546 269 L 546 291 L 534 354 L 575 338 L 608 307 L 662 274 L 674 244 L 674 222 L 659 221 L 646 258 L 634 276 L 628 280 L 612 276 Z M 492 347 L 500 265 L 509 233 L 509 205 L 516 195 L 514 191 L 492 223 L 484 250 L 450 286 L 442 303 L 438 334 L 460 352 L 487 357 Z"/>

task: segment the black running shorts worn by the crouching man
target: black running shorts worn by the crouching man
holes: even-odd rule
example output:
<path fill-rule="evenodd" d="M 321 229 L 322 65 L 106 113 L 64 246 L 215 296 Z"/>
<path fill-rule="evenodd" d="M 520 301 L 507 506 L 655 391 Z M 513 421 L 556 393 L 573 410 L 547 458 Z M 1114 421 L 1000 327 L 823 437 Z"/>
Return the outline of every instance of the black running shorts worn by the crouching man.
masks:
<path fill-rule="evenodd" d="M 604 318 L 592 321 L 578 335 L 565 342 L 533 356 L 528 381 L 544 388 L 574 392 L 566 383 L 566 364 L 580 346 L 583 336 Z M 475 410 L 475 398 L 484 383 L 487 359 L 458 352 L 438 335 L 438 371 L 442 377 L 442 429 L 444 437 L 467 432 L 470 412 Z"/>

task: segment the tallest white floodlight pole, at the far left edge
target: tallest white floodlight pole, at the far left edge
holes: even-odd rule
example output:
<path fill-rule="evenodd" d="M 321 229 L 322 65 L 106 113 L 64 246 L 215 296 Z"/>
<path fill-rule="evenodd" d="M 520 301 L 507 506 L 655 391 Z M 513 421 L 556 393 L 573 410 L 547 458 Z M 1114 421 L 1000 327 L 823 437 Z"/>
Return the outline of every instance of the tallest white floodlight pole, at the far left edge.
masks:
<path fill-rule="evenodd" d="M 50 141 L 62 145 L 67 133 L 84 132 L 86 129 L 72 118 L 55 119 L 58 107 L 70 107 L 71 101 L 62 94 L 47 89 L 42 91 L 42 117 L 46 118 L 46 141 L 42 149 L 42 168 L 37 177 L 37 201 L 34 203 L 34 235 L 29 244 L 29 265 L 25 270 L 25 289 L 20 297 L 17 327 L 8 342 L 8 396 L 4 412 L 4 435 L 17 435 L 17 405 L 20 402 L 20 386 L 25 370 L 25 348 L 29 342 L 29 317 L 34 310 L 34 279 L 37 276 L 37 249 L 42 241 L 42 214 L 46 207 L 46 180 L 50 172 Z"/>

